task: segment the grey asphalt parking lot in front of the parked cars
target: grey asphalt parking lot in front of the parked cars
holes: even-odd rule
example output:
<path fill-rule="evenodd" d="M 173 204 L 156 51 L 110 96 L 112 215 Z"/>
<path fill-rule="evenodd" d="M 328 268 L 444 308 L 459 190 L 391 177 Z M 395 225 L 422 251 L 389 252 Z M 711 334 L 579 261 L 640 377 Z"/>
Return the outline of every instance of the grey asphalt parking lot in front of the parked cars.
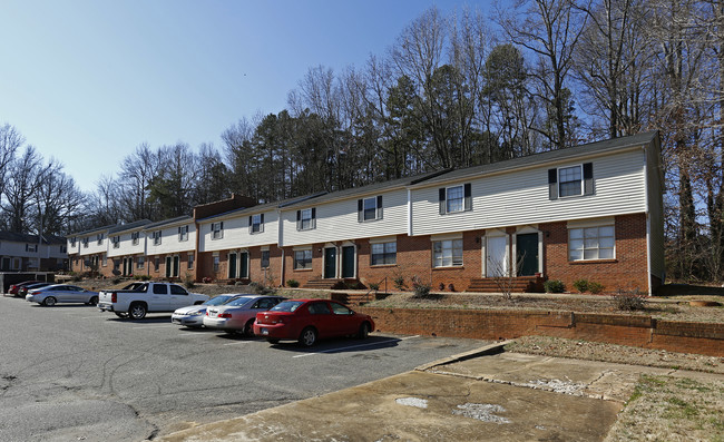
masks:
<path fill-rule="evenodd" d="M 0 440 L 155 439 L 413 370 L 476 340 L 374 333 L 306 350 L 0 297 Z"/>

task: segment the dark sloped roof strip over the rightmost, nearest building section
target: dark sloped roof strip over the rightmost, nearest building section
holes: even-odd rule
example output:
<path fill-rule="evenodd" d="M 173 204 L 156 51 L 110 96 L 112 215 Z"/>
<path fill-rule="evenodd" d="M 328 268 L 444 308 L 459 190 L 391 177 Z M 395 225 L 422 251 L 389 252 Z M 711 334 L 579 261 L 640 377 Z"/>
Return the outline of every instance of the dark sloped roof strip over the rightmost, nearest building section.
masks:
<path fill-rule="evenodd" d="M 456 181 L 470 177 L 479 177 L 481 175 L 497 174 L 508 170 L 516 170 L 526 167 L 540 166 L 546 164 L 555 164 L 567 161 L 576 158 L 588 157 L 591 155 L 609 154 L 618 150 L 627 150 L 635 147 L 640 147 L 653 143 L 658 137 L 657 131 L 644 132 L 632 135 L 628 137 L 620 137 L 607 139 L 604 141 L 595 141 L 586 145 L 568 147 L 566 149 L 549 150 L 539 154 L 528 155 L 526 157 L 507 159 L 483 166 L 466 167 L 464 169 L 451 170 L 438 177 L 432 177 L 419 184 L 419 187 L 434 185 L 447 181 Z"/>

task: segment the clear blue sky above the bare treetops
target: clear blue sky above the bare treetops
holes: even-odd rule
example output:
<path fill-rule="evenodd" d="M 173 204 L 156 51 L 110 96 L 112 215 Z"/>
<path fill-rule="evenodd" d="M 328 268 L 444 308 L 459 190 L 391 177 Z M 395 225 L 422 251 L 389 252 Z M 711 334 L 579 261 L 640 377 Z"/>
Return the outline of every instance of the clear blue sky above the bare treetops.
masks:
<path fill-rule="evenodd" d="M 278 112 L 310 67 L 383 55 L 425 9 L 485 1 L 3 0 L 0 124 L 95 190 L 136 146 Z"/>

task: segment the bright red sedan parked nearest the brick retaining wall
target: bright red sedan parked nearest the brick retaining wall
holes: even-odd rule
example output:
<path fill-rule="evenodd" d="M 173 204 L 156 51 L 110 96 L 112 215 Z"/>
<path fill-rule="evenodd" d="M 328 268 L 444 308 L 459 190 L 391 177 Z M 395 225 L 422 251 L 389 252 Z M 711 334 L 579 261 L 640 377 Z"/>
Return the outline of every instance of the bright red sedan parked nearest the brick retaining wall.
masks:
<path fill-rule="evenodd" d="M 284 301 L 268 312 L 258 313 L 254 323 L 254 334 L 272 344 L 295 340 L 304 346 L 334 336 L 355 335 L 364 340 L 373 330 L 372 316 L 327 299 Z"/>

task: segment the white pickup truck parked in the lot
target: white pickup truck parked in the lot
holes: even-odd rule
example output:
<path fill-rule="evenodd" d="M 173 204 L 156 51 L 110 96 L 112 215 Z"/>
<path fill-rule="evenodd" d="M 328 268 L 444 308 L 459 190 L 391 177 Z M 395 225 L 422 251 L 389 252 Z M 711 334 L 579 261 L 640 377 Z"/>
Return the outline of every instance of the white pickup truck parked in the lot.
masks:
<path fill-rule="evenodd" d="M 118 317 L 143 320 L 146 313 L 173 312 L 205 301 L 207 295 L 189 293 L 177 284 L 138 282 L 123 289 L 99 292 L 98 310 L 114 312 Z"/>

